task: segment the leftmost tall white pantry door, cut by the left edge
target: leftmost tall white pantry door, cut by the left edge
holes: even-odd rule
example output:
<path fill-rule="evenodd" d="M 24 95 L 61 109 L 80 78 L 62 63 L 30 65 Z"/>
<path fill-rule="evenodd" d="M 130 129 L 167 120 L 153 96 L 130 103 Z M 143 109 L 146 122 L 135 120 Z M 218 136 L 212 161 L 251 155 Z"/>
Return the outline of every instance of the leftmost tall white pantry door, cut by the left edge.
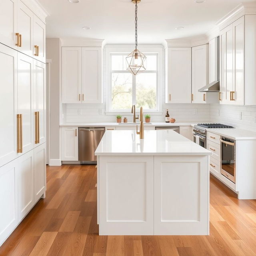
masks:
<path fill-rule="evenodd" d="M 17 52 L 0 44 L 0 166 L 17 157 Z"/>

